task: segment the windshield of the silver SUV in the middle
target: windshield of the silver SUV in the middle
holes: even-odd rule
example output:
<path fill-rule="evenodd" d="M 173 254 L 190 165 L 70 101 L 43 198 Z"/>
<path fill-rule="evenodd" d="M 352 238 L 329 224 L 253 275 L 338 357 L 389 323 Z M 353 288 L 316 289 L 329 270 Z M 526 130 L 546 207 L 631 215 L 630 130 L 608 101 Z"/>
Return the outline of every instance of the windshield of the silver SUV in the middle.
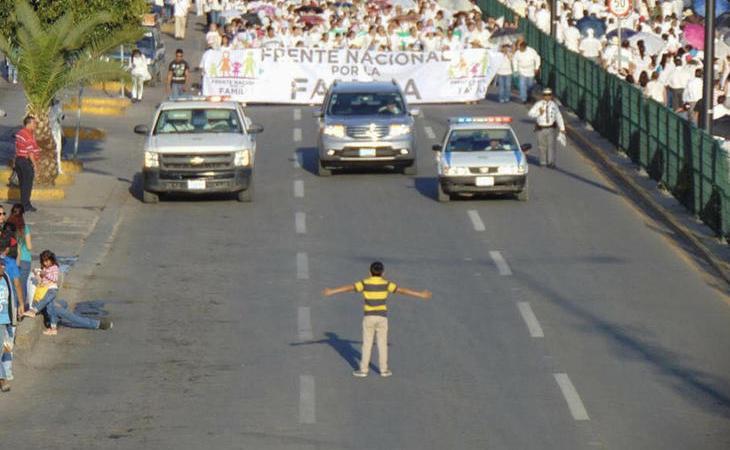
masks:
<path fill-rule="evenodd" d="M 327 114 L 333 116 L 401 116 L 406 108 L 398 92 L 332 94 Z"/>

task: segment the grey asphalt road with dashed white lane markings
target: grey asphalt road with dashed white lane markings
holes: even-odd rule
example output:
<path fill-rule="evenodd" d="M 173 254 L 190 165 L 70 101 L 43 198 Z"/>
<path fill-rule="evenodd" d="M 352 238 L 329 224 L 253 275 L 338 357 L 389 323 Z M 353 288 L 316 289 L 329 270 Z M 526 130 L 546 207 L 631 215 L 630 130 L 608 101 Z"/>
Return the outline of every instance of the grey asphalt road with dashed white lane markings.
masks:
<path fill-rule="evenodd" d="M 730 448 L 727 298 L 572 144 L 527 203 L 434 200 L 446 119 L 534 143 L 521 105 L 424 107 L 416 177 L 318 178 L 307 108 L 248 111 L 254 203 L 130 202 L 88 286 L 114 329 L 44 338 L 3 448 Z M 319 293 L 374 259 L 434 298 L 393 298 L 394 376 L 356 379 L 360 300 Z"/>

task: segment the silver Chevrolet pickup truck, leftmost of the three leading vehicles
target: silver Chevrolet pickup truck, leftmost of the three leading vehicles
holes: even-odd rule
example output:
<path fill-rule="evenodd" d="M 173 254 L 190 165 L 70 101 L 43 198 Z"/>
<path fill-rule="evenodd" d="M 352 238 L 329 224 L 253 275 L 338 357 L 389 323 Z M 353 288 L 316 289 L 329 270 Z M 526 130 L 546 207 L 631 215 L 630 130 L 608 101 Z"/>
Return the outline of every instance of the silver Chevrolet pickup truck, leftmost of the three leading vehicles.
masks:
<path fill-rule="evenodd" d="M 240 104 L 205 99 L 171 100 L 160 104 L 152 128 L 144 134 L 142 169 L 145 203 L 165 193 L 231 193 L 241 202 L 253 200 L 256 134 Z"/>

